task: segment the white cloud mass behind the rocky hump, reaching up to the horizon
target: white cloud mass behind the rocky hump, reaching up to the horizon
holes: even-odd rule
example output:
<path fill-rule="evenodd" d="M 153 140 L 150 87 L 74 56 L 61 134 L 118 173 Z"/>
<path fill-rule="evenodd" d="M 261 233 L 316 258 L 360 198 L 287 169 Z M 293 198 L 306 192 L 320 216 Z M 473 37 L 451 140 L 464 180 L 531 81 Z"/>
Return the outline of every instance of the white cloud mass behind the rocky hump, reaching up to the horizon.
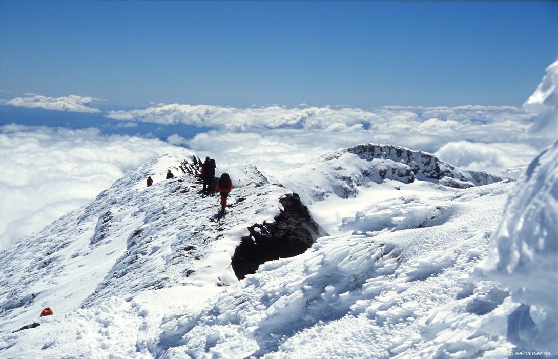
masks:
<path fill-rule="evenodd" d="M 533 114 L 512 106 L 358 108 L 280 106 L 232 108 L 158 104 L 112 111 L 107 117 L 162 125 L 185 123 L 214 128 L 192 140 L 167 141 L 220 161 L 249 161 L 263 169 L 303 164 L 324 152 L 362 142 L 392 143 L 437 153 L 442 159 L 499 174 L 530 161 L 554 138 L 533 138 Z"/>

